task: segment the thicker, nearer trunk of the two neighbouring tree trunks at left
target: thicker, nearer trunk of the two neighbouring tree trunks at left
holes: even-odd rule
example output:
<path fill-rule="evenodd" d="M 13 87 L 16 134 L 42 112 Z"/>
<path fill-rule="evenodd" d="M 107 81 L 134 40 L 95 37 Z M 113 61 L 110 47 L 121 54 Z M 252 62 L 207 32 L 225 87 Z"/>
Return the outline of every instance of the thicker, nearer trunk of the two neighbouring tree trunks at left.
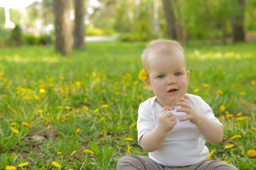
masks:
<path fill-rule="evenodd" d="M 72 32 L 69 18 L 68 0 L 54 0 L 55 12 L 55 49 L 64 56 L 72 53 Z"/>

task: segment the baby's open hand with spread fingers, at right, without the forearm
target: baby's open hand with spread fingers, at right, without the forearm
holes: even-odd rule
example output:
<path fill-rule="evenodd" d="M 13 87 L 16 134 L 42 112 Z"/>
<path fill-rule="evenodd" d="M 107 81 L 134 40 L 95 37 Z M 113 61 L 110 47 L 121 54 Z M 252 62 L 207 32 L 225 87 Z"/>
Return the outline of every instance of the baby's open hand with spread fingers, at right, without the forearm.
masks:
<path fill-rule="evenodd" d="M 177 103 L 177 105 L 180 105 L 181 108 L 176 109 L 176 111 L 187 113 L 187 116 L 181 118 L 180 122 L 189 120 L 192 124 L 197 124 L 200 121 L 201 114 L 197 112 L 187 100 L 180 98 L 180 101 L 181 102 Z"/>

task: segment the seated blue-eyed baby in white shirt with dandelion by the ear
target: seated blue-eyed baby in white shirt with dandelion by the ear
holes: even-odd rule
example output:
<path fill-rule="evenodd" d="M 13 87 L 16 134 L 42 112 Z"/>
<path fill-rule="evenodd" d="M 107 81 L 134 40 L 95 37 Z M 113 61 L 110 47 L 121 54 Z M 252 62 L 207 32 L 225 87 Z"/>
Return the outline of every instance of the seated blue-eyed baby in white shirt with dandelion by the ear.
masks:
<path fill-rule="evenodd" d="M 144 83 L 155 94 L 139 105 L 137 121 L 139 145 L 149 156 L 127 155 L 117 169 L 237 169 L 207 159 L 205 141 L 220 143 L 223 125 L 201 97 L 187 94 L 190 72 L 180 44 L 152 41 L 142 64 Z"/>

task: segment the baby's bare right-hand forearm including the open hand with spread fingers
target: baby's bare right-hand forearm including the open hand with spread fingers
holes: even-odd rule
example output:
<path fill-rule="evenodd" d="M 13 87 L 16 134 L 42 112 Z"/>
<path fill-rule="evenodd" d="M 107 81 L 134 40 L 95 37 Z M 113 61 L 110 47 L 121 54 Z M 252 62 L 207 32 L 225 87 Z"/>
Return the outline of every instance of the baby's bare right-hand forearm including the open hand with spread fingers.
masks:
<path fill-rule="evenodd" d="M 180 101 L 181 102 L 177 103 L 177 105 L 180 105 L 181 108 L 176 111 L 187 113 L 187 116 L 181 118 L 180 122 L 191 121 L 192 124 L 196 125 L 196 128 L 200 131 L 205 140 L 213 144 L 220 143 L 223 139 L 223 130 L 220 124 L 209 120 L 209 118 L 197 112 L 187 100 L 180 99 Z"/>

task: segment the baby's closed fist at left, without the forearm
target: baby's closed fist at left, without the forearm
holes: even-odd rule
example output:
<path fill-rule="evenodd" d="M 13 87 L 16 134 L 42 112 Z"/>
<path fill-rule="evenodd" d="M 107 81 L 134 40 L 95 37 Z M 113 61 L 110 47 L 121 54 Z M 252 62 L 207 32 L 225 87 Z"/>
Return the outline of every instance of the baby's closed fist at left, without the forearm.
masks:
<path fill-rule="evenodd" d="M 167 111 L 167 108 L 164 107 L 162 113 L 158 117 L 158 126 L 161 130 L 168 133 L 171 131 L 174 126 L 177 124 L 174 113 Z"/>

